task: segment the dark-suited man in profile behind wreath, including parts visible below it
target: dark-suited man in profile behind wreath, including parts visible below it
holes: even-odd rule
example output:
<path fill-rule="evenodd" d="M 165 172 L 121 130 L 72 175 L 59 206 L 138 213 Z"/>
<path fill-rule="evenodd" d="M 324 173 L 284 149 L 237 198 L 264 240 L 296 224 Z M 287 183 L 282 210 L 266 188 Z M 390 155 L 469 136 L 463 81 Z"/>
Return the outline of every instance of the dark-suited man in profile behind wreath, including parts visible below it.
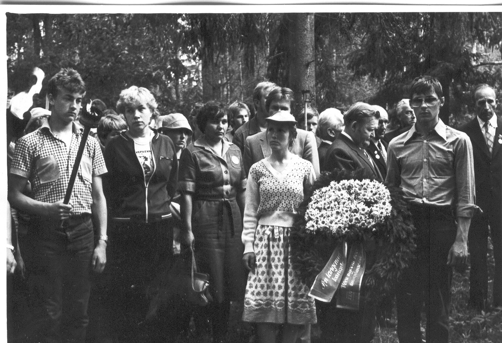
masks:
<path fill-rule="evenodd" d="M 371 105 L 357 102 L 344 114 L 345 128 L 336 138 L 326 153 L 324 169 L 334 168 L 349 171 L 357 168 L 364 170 L 364 178 L 383 182 L 382 175 L 373 164 L 365 147 L 368 146 L 374 130 L 378 127 L 380 113 Z M 367 249 L 366 270 L 371 268 L 374 250 Z M 336 308 L 336 301 L 323 303 L 316 301 L 317 309 L 322 313 L 318 317 L 322 342 L 369 343 L 374 336 L 375 308 L 361 292 L 359 310 L 352 311 Z"/>

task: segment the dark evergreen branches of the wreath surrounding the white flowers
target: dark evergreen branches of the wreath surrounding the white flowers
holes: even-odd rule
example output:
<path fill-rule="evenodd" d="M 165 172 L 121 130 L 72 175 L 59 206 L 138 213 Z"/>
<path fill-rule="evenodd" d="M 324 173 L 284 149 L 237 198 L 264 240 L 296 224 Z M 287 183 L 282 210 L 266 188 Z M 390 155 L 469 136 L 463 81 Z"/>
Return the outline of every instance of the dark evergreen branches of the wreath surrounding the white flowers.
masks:
<path fill-rule="evenodd" d="M 306 228 L 305 213 L 316 190 L 328 187 L 333 181 L 363 180 L 363 170 L 346 171 L 335 169 L 323 172 L 297 209 L 293 228 L 290 232 L 292 263 L 301 279 L 310 287 L 317 274 L 328 262 L 340 237 L 329 231 L 312 231 Z M 344 239 L 347 243 L 364 242 L 375 253 L 374 259 L 367 261 L 363 276 L 365 293 L 374 301 L 385 294 L 391 294 L 404 268 L 414 258 L 415 234 L 411 213 L 399 188 L 388 188 L 392 210 L 383 223 L 377 224 L 372 234 L 349 230 Z"/>

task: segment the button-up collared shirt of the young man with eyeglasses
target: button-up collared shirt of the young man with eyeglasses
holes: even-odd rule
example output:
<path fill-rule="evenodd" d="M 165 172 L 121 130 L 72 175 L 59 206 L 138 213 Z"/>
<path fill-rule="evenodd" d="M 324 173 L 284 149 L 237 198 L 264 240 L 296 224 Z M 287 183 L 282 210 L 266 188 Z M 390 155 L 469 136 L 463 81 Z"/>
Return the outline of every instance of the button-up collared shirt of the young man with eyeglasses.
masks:
<path fill-rule="evenodd" d="M 475 203 L 472 144 L 464 132 L 441 119 L 426 135 L 415 125 L 394 138 L 387 150 L 387 179 L 414 204 L 455 206 L 458 217 L 472 217 Z"/>

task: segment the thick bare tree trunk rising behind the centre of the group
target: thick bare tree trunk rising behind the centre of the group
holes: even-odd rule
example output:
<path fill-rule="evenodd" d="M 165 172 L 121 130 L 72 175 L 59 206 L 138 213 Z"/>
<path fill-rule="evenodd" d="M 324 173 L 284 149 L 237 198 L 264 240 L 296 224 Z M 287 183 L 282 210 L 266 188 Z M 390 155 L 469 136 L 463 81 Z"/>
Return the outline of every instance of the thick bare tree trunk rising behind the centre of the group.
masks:
<path fill-rule="evenodd" d="M 302 90 L 315 99 L 314 14 L 286 14 L 290 28 L 288 40 L 289 86 L 301 105 Z"/>

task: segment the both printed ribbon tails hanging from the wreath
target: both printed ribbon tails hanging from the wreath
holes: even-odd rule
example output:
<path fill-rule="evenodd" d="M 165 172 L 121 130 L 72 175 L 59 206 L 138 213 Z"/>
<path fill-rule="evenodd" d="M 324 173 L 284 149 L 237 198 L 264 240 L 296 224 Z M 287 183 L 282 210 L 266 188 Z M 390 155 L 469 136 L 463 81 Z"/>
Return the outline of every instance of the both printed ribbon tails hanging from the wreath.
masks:
<path fill-rule="evenodd" d="M 315 278 L 309 295 L 320 301 L 330 302 L 338 290 L 336 307 L 357 310 L 365 268 L 366 255 L 362 243 L 353 243 L 347 258 L 347 243 L 340 242 Z"/>

